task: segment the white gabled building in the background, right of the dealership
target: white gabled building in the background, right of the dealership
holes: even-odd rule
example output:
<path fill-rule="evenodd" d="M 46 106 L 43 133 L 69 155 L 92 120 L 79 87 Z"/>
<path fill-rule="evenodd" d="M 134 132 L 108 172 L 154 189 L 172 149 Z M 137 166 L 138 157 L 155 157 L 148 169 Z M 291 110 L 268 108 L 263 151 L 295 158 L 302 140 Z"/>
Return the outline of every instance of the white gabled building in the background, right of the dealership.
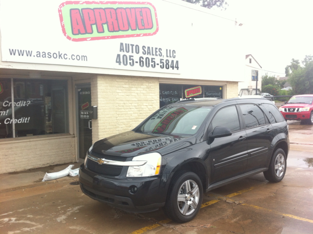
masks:
<path fill-rule="evenodd" d="M 258 93 L 261 93 L 263 70 L 252 54 L 246 55 L 245 81 L 238 83 L 239 96 L 256 94 L 256 81 L 252 80 L 252 70 L 258 71 Z"/>

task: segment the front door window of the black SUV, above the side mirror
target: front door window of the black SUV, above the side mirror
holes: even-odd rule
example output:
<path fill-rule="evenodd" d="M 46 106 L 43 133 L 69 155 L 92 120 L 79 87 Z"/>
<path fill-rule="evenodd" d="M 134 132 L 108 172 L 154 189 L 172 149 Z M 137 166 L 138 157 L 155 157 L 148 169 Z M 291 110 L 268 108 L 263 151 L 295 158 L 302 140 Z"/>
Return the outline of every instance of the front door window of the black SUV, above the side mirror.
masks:
<path fill-rule="evenodd" d="M 227 127 L 231 132 L 240 130 L 238 113 L 235 106 L 225 107 L 214 116 L 212 120 L 212 129 L 217 126 Z"/>

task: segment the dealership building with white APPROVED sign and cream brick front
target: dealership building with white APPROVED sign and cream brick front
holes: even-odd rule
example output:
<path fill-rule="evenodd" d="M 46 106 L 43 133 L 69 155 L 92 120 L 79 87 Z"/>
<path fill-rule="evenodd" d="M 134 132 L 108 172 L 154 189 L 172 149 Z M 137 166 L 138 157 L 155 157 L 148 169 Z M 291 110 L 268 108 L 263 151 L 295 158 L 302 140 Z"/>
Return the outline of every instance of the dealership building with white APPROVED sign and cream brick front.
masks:
<path fill-rule="evenodd" d="M 244 81 L 241 27 L 181 0 L 0 0 L 0 43 L 0 174 L 83 162 L 165 104 Z"/>

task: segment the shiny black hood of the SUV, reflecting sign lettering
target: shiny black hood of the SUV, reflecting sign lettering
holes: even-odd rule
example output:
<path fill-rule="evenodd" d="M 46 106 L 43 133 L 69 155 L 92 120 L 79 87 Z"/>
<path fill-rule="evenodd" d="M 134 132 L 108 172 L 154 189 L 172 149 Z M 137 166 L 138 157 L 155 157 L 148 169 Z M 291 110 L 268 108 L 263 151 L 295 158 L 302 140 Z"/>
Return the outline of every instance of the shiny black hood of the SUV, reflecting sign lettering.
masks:
<path fill-rule="evenodd" d="M 128 131 L 94 143 L 92 152 L 101 155 L 134 157 L 149 152 L 161 155 L 196 143 L 194 136 L 174 136 Z"/>

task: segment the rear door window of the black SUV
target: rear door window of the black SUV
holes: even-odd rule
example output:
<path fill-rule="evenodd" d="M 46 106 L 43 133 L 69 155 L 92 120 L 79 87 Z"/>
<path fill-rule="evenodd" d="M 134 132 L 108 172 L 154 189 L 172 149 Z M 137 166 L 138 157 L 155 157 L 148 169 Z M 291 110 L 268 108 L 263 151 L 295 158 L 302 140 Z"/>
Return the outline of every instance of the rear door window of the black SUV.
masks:
<path fill-rule="evenodd" d="M 266 124 L 263 111 L 253 104 L 240 105 L 246 128 L 252 128 Z"/>

